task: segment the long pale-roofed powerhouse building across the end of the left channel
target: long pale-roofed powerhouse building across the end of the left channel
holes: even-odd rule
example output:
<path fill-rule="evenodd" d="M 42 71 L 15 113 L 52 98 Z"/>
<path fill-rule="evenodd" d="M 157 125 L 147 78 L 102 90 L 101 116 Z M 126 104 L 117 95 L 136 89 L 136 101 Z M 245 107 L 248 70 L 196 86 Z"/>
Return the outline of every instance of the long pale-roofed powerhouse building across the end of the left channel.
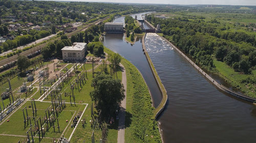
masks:
<path fill-rule="evenodd" d="M 106 33 L 123 33 L 123 23 L 106 22 L 104 25 Z"/>

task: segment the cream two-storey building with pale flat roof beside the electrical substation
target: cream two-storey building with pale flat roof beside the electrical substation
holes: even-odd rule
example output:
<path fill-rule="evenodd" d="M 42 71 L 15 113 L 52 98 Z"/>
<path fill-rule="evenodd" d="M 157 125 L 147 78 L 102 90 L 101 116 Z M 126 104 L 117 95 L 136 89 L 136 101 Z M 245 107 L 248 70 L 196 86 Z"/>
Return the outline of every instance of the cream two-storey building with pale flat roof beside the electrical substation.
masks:
<path fill-rule="evenodd" d="M 61 51 L 63 60 L 82 61 L 87 51 L 87 43 L 75 42 L 72 46 L 65 46 Z"/>

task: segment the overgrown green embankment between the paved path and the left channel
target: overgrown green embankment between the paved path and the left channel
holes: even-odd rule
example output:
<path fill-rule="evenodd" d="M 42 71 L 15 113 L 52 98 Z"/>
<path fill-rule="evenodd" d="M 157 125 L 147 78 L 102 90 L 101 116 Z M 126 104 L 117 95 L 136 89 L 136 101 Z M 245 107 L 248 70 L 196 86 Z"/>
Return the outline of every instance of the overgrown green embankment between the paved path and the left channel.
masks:
<path fill-rule="evenodd" d="M 106 53 L 113 53 L 105 48 Z M 155 122 L 151 96 L 138 69 L 122 58 L 126 70 L 127 93 L 125 113 L 125 142 L 161 142 L 157 122 Z"/>

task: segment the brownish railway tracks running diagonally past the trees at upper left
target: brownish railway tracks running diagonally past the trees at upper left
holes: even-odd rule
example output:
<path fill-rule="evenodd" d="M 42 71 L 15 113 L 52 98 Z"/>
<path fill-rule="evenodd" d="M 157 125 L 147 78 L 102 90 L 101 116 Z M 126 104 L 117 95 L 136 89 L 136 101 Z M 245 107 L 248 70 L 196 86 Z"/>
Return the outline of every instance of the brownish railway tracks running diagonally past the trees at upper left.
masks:
<path fill-rule="evenodd" d="M 81 31 L 85 31 L 85 30 L 86 30 L 88 27 L 90 27 L 91 25 L 99 24 L 101 21 L 104 21 L 104 20 L 106 20 L 106 19 L 108 19 L 108 18 L 109 18 L 109 17 L 105 17 L 105 18 L 103 18 L 103 19 L 99 19 L 99 20 L 97 20 L 97 21 L 94 21 L 93 23 L 84 25 L 83 28 L 81 28 L 81 29 L 79 29 L 79 30 L 76 30 L 76 31 L 73 31 L 73 32 L 71 32 L 71 33 L 68 33 L 68 34 L 67 34 L 67 37 L 70 38 L 73 34 L 76 34 L 76 33 L 81 32 Z M 54 40 L 60 40 L 60 37 L 58 37 L 57 39 L 54 39 Z M 54 41 L 54 40 L 51 40 L 51 41 L 49 41 L 49 42 L 52 42 L 52 41 Z M 37 45 L 37 46 L 35 46 L 35 47 L 33 47 L 33 48 L 29 49 L 29 50 L 26 50 L 26 51 L 23 51 L 23 52 L 19 53 L 19 55 L 25 55 L 25 56 L 27 56 L 27 55 L 29 55 L 29 54 L 35 52 L 35 51 L 40 50 L 42 47 L 46 46 L 46 44 L 47 44 L 47 43 L 42 43 L 42 44 L 40 44 L 40 45 Z M 15 54 L 15 55 L 11 56 L 10 58 L 1 60 L 1 61 L 0 61 L 0 67 L 3 66 L 3 65 L 5 65 L 5 64 L 11 63 L 12 61 L 17 60 L 17 58 L 18 58 L 18 55 Z"/>

